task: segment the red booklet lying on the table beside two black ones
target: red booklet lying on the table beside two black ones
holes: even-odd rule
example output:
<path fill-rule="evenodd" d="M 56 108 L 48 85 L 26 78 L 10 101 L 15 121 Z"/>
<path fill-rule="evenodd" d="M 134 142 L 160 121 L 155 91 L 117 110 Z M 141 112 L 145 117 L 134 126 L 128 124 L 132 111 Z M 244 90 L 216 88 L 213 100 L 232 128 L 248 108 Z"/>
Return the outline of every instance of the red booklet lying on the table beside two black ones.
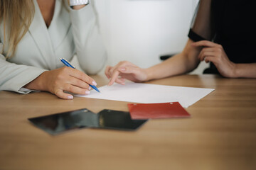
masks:
<path fill-rule="evenodd" d="M 171 103 L 129 103 L 132 119 L 187 118 L 191 115 L 178 102 Z"/>

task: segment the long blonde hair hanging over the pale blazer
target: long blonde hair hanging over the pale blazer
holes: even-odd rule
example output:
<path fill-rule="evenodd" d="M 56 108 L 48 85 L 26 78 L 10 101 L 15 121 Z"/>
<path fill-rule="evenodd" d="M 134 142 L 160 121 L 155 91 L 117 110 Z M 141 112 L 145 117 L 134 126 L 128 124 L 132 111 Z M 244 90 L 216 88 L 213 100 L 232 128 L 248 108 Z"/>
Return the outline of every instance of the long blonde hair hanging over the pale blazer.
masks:
<path fill-rule="evenodd" d="M 18 42 L 27 33 L 33 20 L 33 0 L 0 0 L 0 23 L 4 24 L 4 45 L 8 43 L 6 58 L 12 57 Z M 9 40 L 6 40 L 6 35 Z M 4 49 L 4 48 L 3 48 Z"/>

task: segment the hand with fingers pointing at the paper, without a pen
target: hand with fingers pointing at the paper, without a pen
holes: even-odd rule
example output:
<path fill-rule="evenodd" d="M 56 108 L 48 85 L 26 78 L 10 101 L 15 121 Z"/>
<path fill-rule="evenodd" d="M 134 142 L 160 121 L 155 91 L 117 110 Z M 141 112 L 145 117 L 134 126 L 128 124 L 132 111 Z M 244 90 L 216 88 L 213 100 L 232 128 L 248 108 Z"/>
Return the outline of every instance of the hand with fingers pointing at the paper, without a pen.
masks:
<path fill-rule="evenodd" d="M 114 67 L 107 66 L 105 74 L 110 79 L 109 86 L 114 82 L 124 85 L 125 79 L 134 82 L 146 81 L 147 79 L 146 69 L 127 61 L 119 62 Z"/>

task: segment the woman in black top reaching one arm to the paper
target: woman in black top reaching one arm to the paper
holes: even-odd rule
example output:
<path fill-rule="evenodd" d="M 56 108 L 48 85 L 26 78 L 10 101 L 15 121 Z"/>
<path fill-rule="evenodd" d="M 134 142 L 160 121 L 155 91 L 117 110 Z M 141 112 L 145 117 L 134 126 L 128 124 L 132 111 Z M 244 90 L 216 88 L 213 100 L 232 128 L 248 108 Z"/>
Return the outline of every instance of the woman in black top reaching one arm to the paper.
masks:
<path fill-rule="evenodd" d="M 106 76 L 148 81 L 191 72 L 202 61 L 210 62 L 204 73 L 229 78 L 256 78 L 256 1 L 202 0 L 183 51 L 153 67 L 142 69 L 130 62 L 107 67 Z"/>

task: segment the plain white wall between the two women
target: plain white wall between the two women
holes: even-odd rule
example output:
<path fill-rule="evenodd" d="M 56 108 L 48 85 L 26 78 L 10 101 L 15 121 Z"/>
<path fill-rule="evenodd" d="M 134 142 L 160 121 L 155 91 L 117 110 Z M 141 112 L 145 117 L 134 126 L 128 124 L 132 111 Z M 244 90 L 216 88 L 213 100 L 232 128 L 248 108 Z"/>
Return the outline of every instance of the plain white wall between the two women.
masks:
<path fill-rule="evenodd" d="M 181 52 L 197 0 L 95 0 L 109 65 L 128 60 L 139 67 Z M 196 73 L 201 73 L 205 65 Z"/>

